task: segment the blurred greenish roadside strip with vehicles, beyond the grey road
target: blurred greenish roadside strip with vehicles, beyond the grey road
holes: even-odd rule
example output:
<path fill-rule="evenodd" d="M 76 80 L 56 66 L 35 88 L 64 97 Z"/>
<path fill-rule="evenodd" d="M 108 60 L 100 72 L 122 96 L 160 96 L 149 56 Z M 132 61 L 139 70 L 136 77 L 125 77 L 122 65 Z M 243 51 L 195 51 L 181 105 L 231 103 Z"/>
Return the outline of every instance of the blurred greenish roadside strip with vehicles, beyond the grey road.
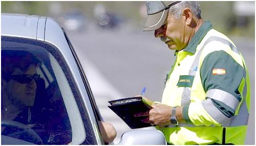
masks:
<path fill-rule="evenodd" d="M 219 31 L 227 35 L 254 37 L 255 4 L 253 1 L 200 2 L 200 5 L 203 19 L 211 20 Z M 75 24 L 66 25 L 72 18 L 78 21 L 87 19 L 90 22 L 97 22 L 100 19 L 101 25 L 106 27 L 117 27 L 125 22 L 139 28 L 143 27 L 146 18 L 144 2 L 1 2 L 1 10 L 52 16 L 63 22 L 67 30 L 73 30 L 76 27 Z"/>

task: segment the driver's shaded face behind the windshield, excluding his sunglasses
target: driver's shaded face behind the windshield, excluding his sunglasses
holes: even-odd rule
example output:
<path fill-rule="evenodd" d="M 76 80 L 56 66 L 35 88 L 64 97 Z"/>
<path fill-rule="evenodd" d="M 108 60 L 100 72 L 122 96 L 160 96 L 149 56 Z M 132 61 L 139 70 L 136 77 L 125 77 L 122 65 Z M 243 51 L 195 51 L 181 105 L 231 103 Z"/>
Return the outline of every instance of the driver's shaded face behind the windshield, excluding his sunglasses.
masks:
<path fill-rule="evenodd" d="M 14 68 L 14 75 L 35 75 L 36 66 L 31 64 L 26 71 L 22 71 L 19 68 Z M 15 79 L 11 79 L 7 83 L 7 93 L 9 100 L 12 101 L 15 106 L 33 106 L 35 102 L 36 82 L 34 79 L 28 83 L 20 83 Z"/>

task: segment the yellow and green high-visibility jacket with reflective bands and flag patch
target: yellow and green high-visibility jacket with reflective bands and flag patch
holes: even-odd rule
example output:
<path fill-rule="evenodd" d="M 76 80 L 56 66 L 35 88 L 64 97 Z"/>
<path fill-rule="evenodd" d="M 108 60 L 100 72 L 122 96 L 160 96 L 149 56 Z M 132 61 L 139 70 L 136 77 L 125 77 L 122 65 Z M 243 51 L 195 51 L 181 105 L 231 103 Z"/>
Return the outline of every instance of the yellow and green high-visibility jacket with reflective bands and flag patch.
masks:
<path fill-rule="evenodd" d="M 162 104 L 184 106 L 186 124 L 159 128 L 172 144 L 244 144 L 250 109 L 249 75 L 233 42 L 205 21 L 176 53 Z"/>

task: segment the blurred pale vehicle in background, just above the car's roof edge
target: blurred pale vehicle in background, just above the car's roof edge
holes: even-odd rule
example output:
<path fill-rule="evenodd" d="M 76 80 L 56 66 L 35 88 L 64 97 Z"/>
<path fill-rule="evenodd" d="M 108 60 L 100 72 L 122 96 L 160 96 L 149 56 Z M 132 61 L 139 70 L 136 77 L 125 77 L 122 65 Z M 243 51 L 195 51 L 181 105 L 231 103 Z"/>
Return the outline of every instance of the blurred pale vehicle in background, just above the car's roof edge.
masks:
<path fill-rule="evenodd" d="M 86 17 L 78 10 L 62 14 L 57 18 L 57 21 L 67 32 L 82 32 L 87 25 Z"/>

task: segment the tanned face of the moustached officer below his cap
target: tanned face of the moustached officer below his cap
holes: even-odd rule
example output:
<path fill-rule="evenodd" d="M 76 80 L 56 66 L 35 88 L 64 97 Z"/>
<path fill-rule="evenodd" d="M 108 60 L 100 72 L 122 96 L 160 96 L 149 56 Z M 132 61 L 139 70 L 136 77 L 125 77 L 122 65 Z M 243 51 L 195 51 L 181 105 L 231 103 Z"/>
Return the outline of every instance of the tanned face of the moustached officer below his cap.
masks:
<path fill-rule="evenodd" d="M 175 19 L 173 15 L 167 15 L 163 26 L 155 31 L 155 37 L 161 38 L 170 50 L 180 51 L 185 48 L 185 21 Z"/>

